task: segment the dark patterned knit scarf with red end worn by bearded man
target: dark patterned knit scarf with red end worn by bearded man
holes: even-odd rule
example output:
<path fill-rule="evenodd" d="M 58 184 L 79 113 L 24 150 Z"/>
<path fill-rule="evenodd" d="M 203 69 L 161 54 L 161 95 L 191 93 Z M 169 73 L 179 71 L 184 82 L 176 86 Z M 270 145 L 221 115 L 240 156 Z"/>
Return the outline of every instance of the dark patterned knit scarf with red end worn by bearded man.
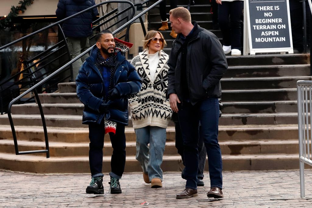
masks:
<path fill-rule="evenodd" d="M 112 54 L 108 59 L 104 59 L 100 53 L 100 49 L 98 49 L 97 52 L 97 58 L 96 61 L 100 64 L 100 66 L 104 66 L 110 69 L 110 85 L 109 90 L 113 89 L 114 83 L 113 83 L 113 77 L 114 77 L 114 69 L 117 62 L 117 53 L 120 51 L 120 49 L 115 48 L 115 53 Z M 110 96 L 108 95 L 107 98 L 105 98 L 106 101 L 110 99 Z M 105 124 L 105 134 L 112 132 L 113 134 L 116 133 L 116 126 L 117 123 L 114 121 L 104 120 Z"/>

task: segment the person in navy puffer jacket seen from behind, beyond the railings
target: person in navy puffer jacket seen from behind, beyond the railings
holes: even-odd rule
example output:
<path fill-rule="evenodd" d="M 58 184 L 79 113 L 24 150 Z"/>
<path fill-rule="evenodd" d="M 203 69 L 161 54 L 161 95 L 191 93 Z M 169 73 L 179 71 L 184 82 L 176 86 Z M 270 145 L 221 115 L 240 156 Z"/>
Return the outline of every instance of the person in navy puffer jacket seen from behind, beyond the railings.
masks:
<path fill-rule="evenodd" d="M 94 0 L 59 0 L 55 13 L 57 18 L 61 20 L 94 5 Z M 88 37 L 92 34 L 92 19 L 95 19 L 97 14 L 98 11 L 95 7 L 63 22 L 62 30 L 67 37 L 71 59 L 77 57 L 90 47 Z M 87 57 L 88 54 L 72 64 L 74 79 L 78 75 L 78 70 L 82 62 Z"/>

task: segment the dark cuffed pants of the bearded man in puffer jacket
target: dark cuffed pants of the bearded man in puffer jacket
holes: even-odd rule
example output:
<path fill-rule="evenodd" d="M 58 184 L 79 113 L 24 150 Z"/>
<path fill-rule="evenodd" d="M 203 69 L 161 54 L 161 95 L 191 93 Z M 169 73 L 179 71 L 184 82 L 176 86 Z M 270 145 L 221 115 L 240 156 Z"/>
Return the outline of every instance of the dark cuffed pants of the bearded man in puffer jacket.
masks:
<path fill-rule="evenodd" d="M 117 123 L 116 134 L 110 134 L 110 142 L 113 147 L 113 154 L 110 161 L 110 176 L 121 178 L 124 173 L 126 163 L 126 136 L 124 134 L 124 125 Z M 101 125 L 89 125 L 89 163 L 92 177 L 103 176 L 103 146 L 104 146 L 105 128 L 104 123 Z"/>

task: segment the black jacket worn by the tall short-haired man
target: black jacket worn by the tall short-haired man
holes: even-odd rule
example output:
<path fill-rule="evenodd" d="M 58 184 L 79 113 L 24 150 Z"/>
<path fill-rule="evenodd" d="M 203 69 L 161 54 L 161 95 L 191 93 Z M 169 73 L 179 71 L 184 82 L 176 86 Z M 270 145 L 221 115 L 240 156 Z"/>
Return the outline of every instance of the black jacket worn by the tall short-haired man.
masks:
<path fill-rule="evenodd" d="M 207 97 L 221 97 L 220 79 L 227 70 L 227 59 L 218 38 L 192 22 L 195 30 L 187 45 L 186 77 L 193 105 Z M 196 29 L 197 28 L 197 29 Z M 198 32 L 198 33 L 197 33 Z M 197 34 L 197 35 L 196 35 Z M 173 41 L 168 66 L 168 93 L 175 93 L 182 101 L 180 64 L 181 35 Z M 186 83 L 185 83 L 186 84 Z"/>

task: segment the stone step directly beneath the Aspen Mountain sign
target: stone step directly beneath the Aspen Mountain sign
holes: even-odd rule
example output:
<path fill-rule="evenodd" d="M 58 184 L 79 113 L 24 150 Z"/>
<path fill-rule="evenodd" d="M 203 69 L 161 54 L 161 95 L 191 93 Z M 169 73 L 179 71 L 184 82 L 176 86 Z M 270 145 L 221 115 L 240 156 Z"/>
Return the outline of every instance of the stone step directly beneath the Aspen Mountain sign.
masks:
<path fill-rule="evenodd" d="M 229 66 L 254 66 L 254 65 L 288 65 L 309 64 L 308 54 L 276 54 L 256 56 L 228 56 Z"/>

